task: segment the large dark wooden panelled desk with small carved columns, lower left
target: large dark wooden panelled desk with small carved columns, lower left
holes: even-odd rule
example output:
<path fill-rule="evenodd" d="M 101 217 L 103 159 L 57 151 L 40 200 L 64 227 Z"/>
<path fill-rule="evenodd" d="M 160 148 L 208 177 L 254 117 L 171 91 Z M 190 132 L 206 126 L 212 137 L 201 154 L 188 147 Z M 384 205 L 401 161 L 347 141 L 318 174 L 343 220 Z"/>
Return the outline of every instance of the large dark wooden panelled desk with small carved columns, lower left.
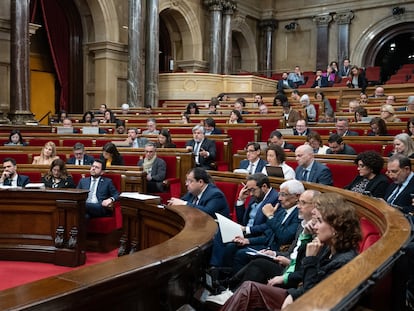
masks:
<path fill-rule="evenodd" d="M 83 265 L 87 196 L 87 190 L 78 189 L 2 189 L 0 259 Z M 68 245 L 71 234 L 74 245 Z M 62 244 L 57 235 L 63 237 Z"/>

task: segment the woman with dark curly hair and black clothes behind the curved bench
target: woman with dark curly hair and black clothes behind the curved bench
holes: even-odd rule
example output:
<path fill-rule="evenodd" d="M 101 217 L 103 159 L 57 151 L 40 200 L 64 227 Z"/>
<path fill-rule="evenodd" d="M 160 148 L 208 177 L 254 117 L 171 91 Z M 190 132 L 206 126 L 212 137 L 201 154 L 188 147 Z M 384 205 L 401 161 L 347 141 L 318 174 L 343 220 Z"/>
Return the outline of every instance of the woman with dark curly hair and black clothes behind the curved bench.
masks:
<path fill-rule="evenodd" d="M 381 174 L 384 166 L 381 155 L 375 151 L 362 152 L 356 157 L 355 164 L 358 166 L 359 175 L 345 186 L 345 189 L 384 198 L 389 181 L 384 174 Z"/>

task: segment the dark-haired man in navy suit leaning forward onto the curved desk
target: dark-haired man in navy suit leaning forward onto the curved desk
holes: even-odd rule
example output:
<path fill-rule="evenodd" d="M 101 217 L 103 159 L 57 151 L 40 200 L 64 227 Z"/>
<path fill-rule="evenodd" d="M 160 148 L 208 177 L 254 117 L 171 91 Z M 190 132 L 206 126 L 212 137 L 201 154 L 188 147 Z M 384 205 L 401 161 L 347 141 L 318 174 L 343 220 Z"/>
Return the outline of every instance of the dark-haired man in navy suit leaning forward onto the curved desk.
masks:
<path fill-rule="evenodd" d="M 224 193 L 213 183 L 207 171 L 195 167 L 187 174 L 185 182 L 188 192 L 181 198 L 171 198 L 168 205 L 188 205 L 216 218 L 215 213 L 230 216 L 229 206 Z"/>

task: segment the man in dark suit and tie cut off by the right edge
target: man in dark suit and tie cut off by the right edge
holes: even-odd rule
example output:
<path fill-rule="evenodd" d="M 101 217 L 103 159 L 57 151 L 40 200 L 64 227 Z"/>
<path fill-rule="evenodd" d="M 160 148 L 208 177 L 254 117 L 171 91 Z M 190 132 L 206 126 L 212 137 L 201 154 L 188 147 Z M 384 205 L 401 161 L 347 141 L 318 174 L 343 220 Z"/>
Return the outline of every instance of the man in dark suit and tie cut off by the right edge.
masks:
<path fill-rule="evenodd" d="M 414 173 L 411 161 L 402 154 L 394 154 L 388 160 L 387 175 L 393 181 L 385 191 L 385 201 L 401 208 L 404 213 L 414 211 L 411 194 L 414 193 Z"/>

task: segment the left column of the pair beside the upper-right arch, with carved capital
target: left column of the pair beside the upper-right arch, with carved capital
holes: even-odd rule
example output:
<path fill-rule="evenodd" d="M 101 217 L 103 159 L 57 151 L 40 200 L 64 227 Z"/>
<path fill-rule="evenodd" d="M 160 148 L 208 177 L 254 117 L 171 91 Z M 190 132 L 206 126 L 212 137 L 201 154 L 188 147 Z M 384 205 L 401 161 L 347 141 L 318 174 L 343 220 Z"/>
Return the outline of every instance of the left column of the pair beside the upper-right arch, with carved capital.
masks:
<path fill-rule="evenodd" d="M 316 68 L 325 70 L 329 64 L 329 23 L 332 16 L 329 14 L 317 15 L 313 18 L 317 26 L 316 38 Z"/>

